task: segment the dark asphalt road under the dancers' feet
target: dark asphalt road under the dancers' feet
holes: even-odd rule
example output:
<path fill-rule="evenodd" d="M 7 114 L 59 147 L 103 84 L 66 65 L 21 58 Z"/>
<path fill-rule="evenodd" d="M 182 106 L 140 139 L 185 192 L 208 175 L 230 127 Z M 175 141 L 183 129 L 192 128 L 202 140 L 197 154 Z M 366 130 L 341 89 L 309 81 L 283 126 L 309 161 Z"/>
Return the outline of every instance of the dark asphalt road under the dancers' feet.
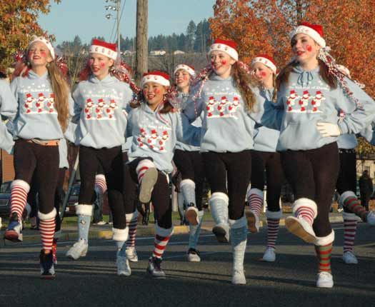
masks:
<path fill-rule="evenodd" d="M 332 259 L 335 286 L 315 287 L 313 246 L 280 229 L 274 263 L 259 259 L 266 228 L 250 235 L 246 250 L 246 286 L 233 286 L 231 248 L 202 233 L 202 261 L 188 263 L 188 236 L 171 238 L 162 267 L 166 280 L 146 274 L 153 238 L 137 238 L 138 263 L 130 277 L 116 276 L 115 247 L 110 240 L 90 241 L 89 253 L 78 261 L 64 254 L 74 242 L 58 248 L 56 279 L 39 279 L 39 243 L 6 243 L 0 248 L 0 306 L 375 306 L 375 228 L 359 225 L 356 236 L 358 265 L 341 260 L 343 228 L 334 224 Z"/>

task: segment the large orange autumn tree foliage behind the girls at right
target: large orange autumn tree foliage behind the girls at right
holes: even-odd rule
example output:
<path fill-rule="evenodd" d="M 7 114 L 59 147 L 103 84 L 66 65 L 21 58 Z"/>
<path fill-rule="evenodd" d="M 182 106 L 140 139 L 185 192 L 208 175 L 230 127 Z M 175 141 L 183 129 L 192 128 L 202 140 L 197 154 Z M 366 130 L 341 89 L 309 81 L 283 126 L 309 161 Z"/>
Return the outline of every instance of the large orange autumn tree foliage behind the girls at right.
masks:
<path fill-rule="evenodd" d="M 212 38 L 236 41 L 246 63 L 266 53 L 279 67 L 291 59 L 289 33 L 301 21 L 324 26 L 336 61 L 375 97 L 375 0 L 217 0 L 209 19 Z M 360 140 L 359 152 L 371 151 Z"/>

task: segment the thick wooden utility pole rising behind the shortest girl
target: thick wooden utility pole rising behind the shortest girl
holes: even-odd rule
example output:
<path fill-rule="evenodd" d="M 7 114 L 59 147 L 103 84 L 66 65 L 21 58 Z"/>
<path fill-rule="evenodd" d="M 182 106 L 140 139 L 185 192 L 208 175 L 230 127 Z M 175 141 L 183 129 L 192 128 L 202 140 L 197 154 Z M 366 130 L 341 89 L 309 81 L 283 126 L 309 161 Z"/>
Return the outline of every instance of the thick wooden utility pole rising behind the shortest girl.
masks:
<path fill-rule="evenodd" d="M 149 0 L 136 0 L 136 82 L 147 72 Z"/>

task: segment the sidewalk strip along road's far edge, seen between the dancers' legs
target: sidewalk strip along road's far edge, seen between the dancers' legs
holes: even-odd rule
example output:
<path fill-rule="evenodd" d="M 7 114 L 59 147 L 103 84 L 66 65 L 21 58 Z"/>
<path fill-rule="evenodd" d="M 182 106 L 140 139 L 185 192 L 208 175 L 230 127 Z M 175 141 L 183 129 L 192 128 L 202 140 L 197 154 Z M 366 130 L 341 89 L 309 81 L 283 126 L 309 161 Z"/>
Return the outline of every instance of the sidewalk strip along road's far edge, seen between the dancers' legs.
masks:
<path fill-rule="evenodd" d="M 280 226 L 285 226 L 285 218 L 289 216 L 289 213 L 286 213 L 283 215 L 283 217 L 280 220 Z M 329 221 L 331 223 L 342 223 L 343 218 L 341 213 L 330 213 Z M 149 225 L 144 226 L 141 224 L 138 224 L 138 228 L 136 231 L 137 236 L 154 236 L 154 223 L 149 223 Z M 264 213 L 261 215 L 261 226 L 266 226 L 266 216 Z M 209 212 L 206 212 L 204 215 L 204 221 L 202 224 L 202 231 L 203 232 L 209 232 L 211 233 L 212 228 L 214 227 L 214 221 L 209 215 Z M 67 225 L 63 224 L 61 226 L 62 233 L 60 240 L 70 240 L 70 241 L 76 241 L 78 237 L 78 231 L 76 225 Z M 24 242 L 30 242 L 30 241 L 39 241 L 39 231 L 33 231 L 29 228 L 24 229 Z M 186 234 L 189 233 L 189 226 L 180 226 L 179 221 L 174 221 L 174 234 Z M 111 239 L 112 238 L 112 226 L 110 225 L 91 225 L 90 226 L 90 232 L 89 232 L 89 238 L 95 239 L 95 238 L 105 238 L 105 239 Z"/>

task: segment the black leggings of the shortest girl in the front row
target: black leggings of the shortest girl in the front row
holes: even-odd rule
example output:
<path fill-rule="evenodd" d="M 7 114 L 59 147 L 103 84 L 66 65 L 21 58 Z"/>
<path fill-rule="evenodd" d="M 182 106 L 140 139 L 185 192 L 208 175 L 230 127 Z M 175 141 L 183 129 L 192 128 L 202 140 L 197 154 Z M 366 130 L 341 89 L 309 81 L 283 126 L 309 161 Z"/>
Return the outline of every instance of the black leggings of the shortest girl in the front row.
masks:
<path fill-rule="evenodd" d="M 136 174 L 136 166 L 139 161 L 145 158 L 136 158 L 128 164 L 130 175 L 135 184 L 138 184 L 138 176 Z M 152 158 L 146 158 L 152 161 Z M 151 193 L 151 202 L 154 206 L 154 218 L 161 228 L 169 229 L 172 226 L 172 205 L 171 192 L 166 174 L 158 171 L 158 179 Z"/>

